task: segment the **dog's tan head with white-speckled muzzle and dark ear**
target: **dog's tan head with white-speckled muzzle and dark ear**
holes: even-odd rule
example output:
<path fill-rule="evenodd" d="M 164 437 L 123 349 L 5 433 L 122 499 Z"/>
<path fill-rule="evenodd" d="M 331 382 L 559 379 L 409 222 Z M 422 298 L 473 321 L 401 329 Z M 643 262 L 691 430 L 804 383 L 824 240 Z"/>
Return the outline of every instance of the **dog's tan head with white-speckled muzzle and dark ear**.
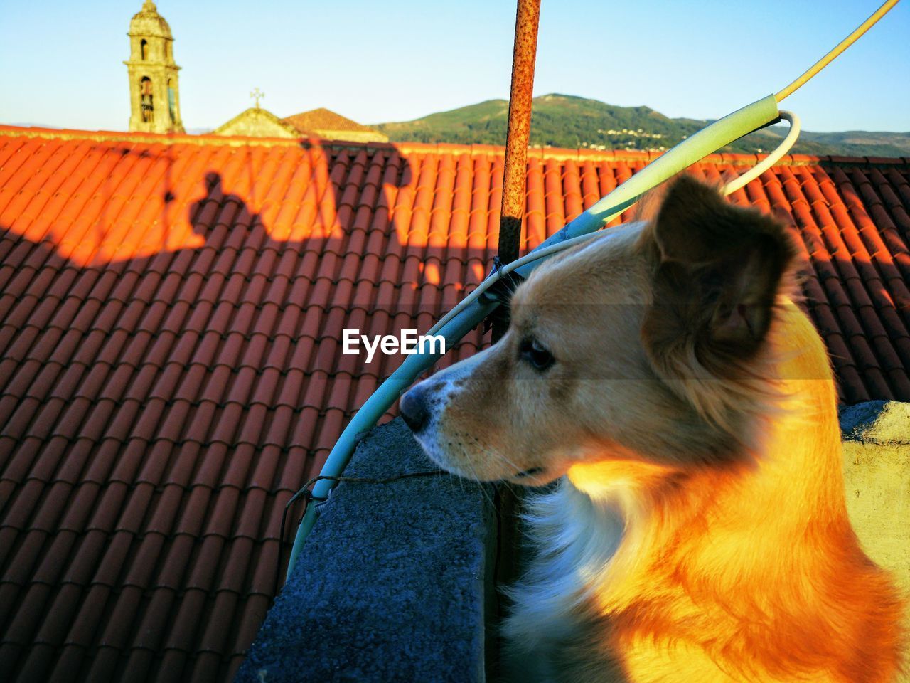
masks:
<path fill-rule="evenodd" d="M 401 414 L 432 460 L 480 480 L 733 457 L 793 256 L 773 219 L 680 178 L 655 219 L 534 270 L 501 341 L 414 386 Z"/>

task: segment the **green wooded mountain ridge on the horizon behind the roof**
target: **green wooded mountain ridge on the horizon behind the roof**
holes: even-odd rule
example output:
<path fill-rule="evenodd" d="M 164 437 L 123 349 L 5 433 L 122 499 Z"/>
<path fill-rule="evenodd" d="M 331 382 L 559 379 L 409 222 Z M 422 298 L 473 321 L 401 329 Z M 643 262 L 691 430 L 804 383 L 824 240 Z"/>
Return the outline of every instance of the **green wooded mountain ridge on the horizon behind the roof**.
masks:
<path fill-rule="evenodd" d="M 502 145 L 509 103 L 490 99 L 480 104 L 430 114 L 413 121 L 380 123 L 395 142 L 453 142 Z M 615 107 L 596 99 L 571 95 L 535 97 L 531 107 L 531 145 L 535 147 L 652 149 L 672 148 L 710 121 L 670 118 L 649 107 Z M 786 135 L 775 126 L 752 133 L 721 151 L 769 152 Z M 800 154 L 846 156 L 910 156 L 910 133 L 811 133 L 803 131 L 793 149 Z"/>

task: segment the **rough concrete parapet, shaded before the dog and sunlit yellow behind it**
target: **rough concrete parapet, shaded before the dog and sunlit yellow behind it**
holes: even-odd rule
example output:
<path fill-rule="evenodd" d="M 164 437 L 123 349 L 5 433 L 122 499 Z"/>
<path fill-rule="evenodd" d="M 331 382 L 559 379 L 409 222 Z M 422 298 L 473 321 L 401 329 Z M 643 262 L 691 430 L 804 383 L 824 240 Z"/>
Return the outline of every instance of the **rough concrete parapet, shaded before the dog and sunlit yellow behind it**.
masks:
<path fill-rule="evenodd" d="M 841 427 L 851 521 L 910 594 L 910 403 L 844 408 Z M 369 434 L 345 474 L 430 469 L 395 421 Z M 237 680 L 484 680 L 490 490 L 445 475 L 339 484 L 321 511 Z"/>

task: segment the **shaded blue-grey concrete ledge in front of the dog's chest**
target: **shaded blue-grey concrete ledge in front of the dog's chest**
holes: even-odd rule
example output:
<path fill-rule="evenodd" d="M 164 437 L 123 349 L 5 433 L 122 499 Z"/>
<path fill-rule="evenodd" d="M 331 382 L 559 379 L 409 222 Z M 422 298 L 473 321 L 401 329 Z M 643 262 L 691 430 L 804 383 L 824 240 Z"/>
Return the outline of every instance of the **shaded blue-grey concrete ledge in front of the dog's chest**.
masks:
<path fill-rule="evenodd" d="M 396 420 L 345 474 L 432 469 Z M 339 484 L 236 680 L 482 681 L 486 495 L 448 474 Z"/>

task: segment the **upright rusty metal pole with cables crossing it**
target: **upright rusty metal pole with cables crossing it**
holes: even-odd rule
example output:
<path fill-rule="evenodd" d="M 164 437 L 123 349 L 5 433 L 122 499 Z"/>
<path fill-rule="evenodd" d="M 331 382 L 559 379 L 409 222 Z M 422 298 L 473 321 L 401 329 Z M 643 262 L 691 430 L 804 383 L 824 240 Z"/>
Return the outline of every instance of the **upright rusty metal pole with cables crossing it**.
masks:
<path fill-rule="evenodd" d="M 518 258 L 521 216 L 524 213 L 524 186 L 528 169 L 528 139 L 531 136 L 531 98 L 534 90 L 534 60 L 537 56 L 537 26 L 541 0 L 518 0 L 515 17 L 515 47 L 512 52 L 512 80 L 509 94 L 509 127 L 506 131 L 506 159 L 502 173 L 502 212 L 499 257 L 502 263 Z M 493 341 L 506 330 L 508 318 L 493 319 Z"/>

